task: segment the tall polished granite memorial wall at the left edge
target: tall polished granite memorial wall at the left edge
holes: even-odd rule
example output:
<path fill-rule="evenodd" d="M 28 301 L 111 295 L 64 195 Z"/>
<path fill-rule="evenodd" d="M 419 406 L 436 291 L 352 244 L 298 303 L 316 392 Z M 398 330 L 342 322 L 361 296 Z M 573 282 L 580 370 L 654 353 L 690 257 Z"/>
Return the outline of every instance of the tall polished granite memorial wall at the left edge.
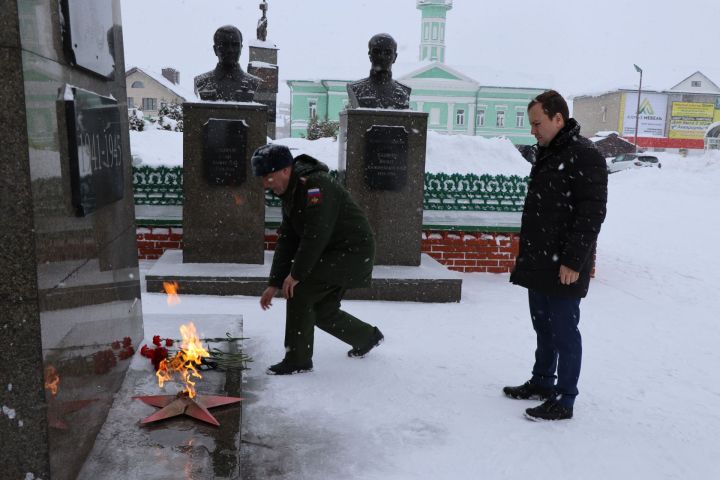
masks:
<path fill-rule="evenodd" d="M 72 479 L 143 337 L 120 1 L 3 7 L 0 470 Z"/>

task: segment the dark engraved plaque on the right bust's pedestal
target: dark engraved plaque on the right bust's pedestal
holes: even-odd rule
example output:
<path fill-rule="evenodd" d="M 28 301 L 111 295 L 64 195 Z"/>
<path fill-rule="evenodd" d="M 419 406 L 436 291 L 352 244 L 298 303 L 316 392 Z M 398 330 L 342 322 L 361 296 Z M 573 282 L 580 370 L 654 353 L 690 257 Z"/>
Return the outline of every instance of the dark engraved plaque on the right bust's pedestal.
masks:
<path fill-rule="evenodd" d="M 370 190 L 402 190 L 407 184 L 408 132 L 373 125 L 365 135 L 365 184 Z"/>

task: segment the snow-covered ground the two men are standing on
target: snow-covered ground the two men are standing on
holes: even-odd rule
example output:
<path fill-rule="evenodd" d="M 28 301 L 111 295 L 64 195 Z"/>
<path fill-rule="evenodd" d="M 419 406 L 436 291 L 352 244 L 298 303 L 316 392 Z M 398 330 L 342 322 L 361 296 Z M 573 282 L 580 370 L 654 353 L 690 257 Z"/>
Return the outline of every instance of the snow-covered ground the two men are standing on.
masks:
<path fill-rule="evenodd" d="M 290 377 L 264 373 L 284 353 L 282 300 L 144 294 L 143 309 L 243 315 L 245 478 L 720 478 L 720 155 L 661 156 L 610 176 L 570 421 L 529 422 L 537 402 L 501 393 L 529 378 L 534 349 L 507 275 L 463 274 L 458 304 L 344 302 L 385 343 L 349 359 L 317 331 L 315 370 Z"/>

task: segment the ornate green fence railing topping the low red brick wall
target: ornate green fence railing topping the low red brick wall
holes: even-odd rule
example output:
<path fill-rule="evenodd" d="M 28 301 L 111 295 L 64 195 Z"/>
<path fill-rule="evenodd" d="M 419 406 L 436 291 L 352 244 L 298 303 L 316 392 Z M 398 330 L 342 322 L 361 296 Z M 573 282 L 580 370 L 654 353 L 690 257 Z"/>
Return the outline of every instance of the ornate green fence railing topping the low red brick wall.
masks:
<path fill-rule="evenodd" d="M 336 175 L 336 172 L 331 172 Z M 182 167 L 134 167 L 136 205 L 182 205 Z M 517 175 L 425 174 L 425 210 L 520 212 L 527 193 L 527 177 Z M 265 204 L 280 199 L 265 194 Z"/>

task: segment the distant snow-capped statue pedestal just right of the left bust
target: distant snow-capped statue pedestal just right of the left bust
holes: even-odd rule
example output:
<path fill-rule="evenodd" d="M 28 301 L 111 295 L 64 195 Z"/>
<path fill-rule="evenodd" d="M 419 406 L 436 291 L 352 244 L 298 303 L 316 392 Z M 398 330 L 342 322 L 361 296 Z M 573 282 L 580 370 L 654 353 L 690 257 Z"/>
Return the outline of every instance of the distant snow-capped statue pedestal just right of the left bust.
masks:
<path fill-rule="evenodd" d="M 268 107 L 268 137 L 275 139 L 278 75 L 277 47 L 270 42 L 255 40 L 250 44 L 250 63 L 248 73 L 262 79 L 258 91 L 255 92 L 255 101 Z"/>

